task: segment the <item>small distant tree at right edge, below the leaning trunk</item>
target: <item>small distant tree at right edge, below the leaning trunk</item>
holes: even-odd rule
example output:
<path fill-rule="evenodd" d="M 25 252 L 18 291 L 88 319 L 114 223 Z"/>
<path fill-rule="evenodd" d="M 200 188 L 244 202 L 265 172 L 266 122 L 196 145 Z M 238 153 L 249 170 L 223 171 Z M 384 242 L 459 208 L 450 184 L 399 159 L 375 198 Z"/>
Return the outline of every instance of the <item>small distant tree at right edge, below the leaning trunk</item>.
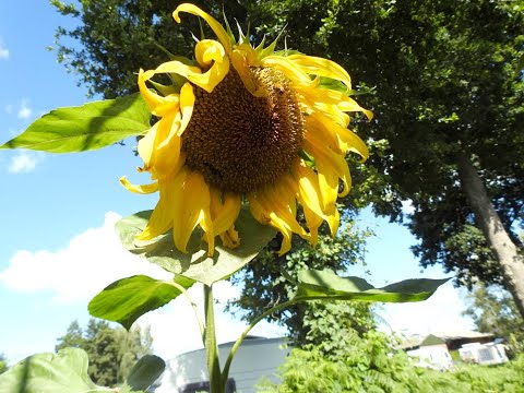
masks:
<path fill-rule="evenodd" d="M 464 314 L 473 319 L 479 332 L 504 338 L 510 356 L 524 353 L 524 320 L 507 290 L 500 286 L 478 284 L 468 300 Z"/>

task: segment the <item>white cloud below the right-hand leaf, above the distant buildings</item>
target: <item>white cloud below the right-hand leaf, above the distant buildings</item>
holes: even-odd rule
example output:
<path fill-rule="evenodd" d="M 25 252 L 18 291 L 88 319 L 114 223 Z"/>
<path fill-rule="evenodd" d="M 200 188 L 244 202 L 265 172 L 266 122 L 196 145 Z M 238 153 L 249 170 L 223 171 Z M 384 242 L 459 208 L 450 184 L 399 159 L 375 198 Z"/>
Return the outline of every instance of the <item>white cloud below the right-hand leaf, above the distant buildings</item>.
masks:
<path fill-rule="evenodd" d="M 466 308 L 465 293 L 449 282 L 428 300 L 384 305 L 381 317 L 388 327 L 405 335 L 471 331 L 472 320 L 462 315 Z"/>

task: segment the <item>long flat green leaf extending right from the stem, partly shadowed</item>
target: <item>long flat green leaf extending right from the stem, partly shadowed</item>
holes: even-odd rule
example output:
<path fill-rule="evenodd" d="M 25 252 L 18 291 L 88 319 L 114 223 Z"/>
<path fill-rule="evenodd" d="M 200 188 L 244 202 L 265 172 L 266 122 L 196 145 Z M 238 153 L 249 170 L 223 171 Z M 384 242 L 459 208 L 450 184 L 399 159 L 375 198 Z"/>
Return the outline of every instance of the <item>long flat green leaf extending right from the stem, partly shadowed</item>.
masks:
<path fill-rule="evenodd" d="M 413 278 L 374 288 L 364 278 L 340 277 L 330 270 L 305 269 L 295 283 L 298 286 L 296 298 L 405 302 L 426 300 L 448 281 Z"/>

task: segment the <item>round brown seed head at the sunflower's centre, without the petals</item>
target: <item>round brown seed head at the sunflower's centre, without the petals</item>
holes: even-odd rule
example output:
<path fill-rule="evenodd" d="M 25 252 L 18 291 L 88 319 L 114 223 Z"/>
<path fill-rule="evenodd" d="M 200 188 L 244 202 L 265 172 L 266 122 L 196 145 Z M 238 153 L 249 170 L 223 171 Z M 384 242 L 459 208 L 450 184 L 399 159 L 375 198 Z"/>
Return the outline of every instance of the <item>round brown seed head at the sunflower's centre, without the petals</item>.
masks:
<path fill-rule="evenodd" d="M 231 67 L 212 93 L 193 86 L 195 103 L 182 134 L 186 163 L 219 190 L 248 193 L 274 183 L 297 157 L 305 121 L 279 71 L 251 68 L 266 97 L 254 97 Z"/>

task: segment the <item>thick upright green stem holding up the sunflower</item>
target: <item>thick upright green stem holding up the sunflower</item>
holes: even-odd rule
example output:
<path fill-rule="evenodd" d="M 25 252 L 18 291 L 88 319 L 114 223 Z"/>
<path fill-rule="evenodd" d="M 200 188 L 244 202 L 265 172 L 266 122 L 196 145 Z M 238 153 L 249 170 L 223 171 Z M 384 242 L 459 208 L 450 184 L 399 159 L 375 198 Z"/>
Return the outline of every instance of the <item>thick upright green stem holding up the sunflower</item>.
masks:
<path fill-rule="evenodd" d="M 221 362 L 218 360 L 218 346 L 216 345 L 215 312 L 213 310 L 213 289 L 204 285 L 204 313 L 205 336 L 204 346 L 207 356 L 207 371 L 210 373 L 211 393 L 224 393 L 221 376 Z"/>

